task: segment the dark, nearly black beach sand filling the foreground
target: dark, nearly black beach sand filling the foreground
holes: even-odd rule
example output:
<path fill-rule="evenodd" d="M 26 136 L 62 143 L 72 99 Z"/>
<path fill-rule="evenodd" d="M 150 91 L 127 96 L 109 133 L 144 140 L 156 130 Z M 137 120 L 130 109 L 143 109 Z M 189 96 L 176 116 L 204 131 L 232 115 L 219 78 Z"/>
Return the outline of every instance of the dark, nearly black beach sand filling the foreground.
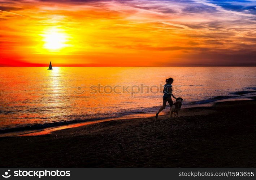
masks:
<path fill-rule="evenodd" d="M 182 113 L 181 113 L 182 115 Z M 0 167 L 255 167 L 256 101 L 0 138 Z"/>

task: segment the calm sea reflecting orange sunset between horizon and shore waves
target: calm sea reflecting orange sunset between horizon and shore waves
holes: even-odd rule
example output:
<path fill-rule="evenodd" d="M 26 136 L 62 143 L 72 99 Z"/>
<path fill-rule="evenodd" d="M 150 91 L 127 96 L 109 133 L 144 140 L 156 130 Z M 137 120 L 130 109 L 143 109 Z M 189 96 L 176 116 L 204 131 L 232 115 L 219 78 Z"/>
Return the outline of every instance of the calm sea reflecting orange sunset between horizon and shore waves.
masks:
<path fill-rule="evenodd" d="M 256 67 L 0 67 L 0 130 L 157 112 L 168 77 L 184 107 L 256 90 Z"/>

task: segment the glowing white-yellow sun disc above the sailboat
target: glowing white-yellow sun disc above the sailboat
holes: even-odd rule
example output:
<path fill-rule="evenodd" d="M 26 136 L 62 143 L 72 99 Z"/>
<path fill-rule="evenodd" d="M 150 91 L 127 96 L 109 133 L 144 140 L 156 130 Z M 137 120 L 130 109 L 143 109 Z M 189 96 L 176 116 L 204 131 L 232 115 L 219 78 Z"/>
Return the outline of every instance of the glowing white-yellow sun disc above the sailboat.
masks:
<path fill-rule="evenodd" d="M 44 49 L 59 51 L 68 46 L 68 35 L 60 28 L 49 28 L 43 33 Z"/>

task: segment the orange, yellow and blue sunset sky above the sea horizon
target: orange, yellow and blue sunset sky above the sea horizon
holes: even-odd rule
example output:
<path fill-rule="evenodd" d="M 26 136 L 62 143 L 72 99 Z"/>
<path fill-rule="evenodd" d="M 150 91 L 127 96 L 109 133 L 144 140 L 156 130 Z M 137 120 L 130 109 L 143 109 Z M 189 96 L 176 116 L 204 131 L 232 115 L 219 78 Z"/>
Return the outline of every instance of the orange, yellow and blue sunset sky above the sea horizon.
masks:
<path fill-rule="evenodd" d="M 256 66 L 255 0 L 0 0 L 0 66 Z"/>

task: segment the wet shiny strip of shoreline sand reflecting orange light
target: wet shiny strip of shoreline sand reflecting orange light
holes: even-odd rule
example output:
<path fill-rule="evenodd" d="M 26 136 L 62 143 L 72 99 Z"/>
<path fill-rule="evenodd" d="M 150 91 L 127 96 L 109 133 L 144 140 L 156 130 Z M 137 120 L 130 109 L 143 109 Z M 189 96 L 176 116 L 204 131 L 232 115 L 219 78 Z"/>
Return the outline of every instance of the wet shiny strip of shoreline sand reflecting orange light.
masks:
<path fill-rule="evenodd" d="M 232 97 L 232 98 L 227 98 L 227 99 L 220 99 L 216 100 L 214 102 L 209 102 L 209 103 L 203 103 L 203 104 L 191 104 L 191 105 L 186 105 L 185 108 L 181 109 L 182 111 L 186 111 L 186 109 L 190 108 L 203 108 L 203 107 L 212 107 L 216 103 L 219 102 L 229 102 L 229 101 L 237 101 L 237 100 L 253 100 L 254 97 L 242 97 L 238 98 Z M 166 109 L 169 109 L 167 107 Z M 160 116 L 166 116 L 168 112 L 162 111 L 161 113 L 164 113 L 164 115 Z M 182 115 L 182 116 L 190 116 L 190 114 Z M 50 127 L 45 127 L 45 128 L 39 128 L 39 129 L 31 129 L 31 130 L 21 130 L 21 131 L 10 131 L 10 132 L 3 132 L 0 133 L 0 138 L 3 137 L 11 137 L 11 136 L 40 136 L 40 135 L 47 135 L 50 134 L 51 132 L 62 130 L 62 129 L 69 129 L 69 128 L 75 128 L 79 126 L 86 126 L 90 124 L 95 124 L 95 123 L 101 123 L 101 122 L 107 122 L 107 121 L 114 121 L 114 120 L 126 120 L 126 119 L 137 119 L 137 118 L 149 118 L 149 117 L 155 117 L 155 112 L 148 112 L 148 113 L 137 113 L 137 114 L 129 114 L 129 115 L 124 115 L 121 117 L 113 117 L 113 118 L 105 118 L 102 120 L 89 120 L 89 121 L 82 121 L 82 122 L 71 122 L 67 123 L 65 125 L 59 125 L 59 126 L 50 126 Z"/>

